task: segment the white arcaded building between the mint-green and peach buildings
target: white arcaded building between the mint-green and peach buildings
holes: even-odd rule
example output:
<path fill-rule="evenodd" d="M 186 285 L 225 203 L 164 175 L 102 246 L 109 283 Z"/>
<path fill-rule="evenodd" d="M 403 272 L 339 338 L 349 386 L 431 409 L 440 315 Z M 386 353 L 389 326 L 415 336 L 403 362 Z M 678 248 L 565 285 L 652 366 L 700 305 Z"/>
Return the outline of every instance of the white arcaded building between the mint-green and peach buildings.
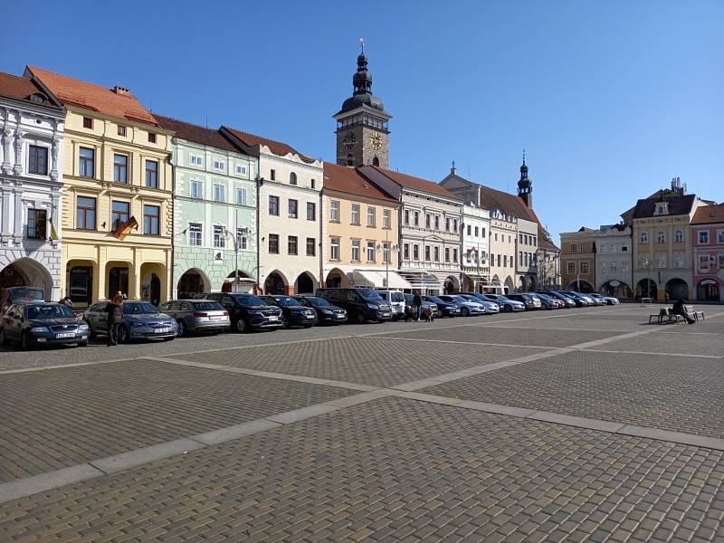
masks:
<path fill-rule="evenodd" d="M 221 133 L 259 160 L 259 271 L 266 294 L 314 292 L 321 276 L 321 160 L 247 132 Z"/>

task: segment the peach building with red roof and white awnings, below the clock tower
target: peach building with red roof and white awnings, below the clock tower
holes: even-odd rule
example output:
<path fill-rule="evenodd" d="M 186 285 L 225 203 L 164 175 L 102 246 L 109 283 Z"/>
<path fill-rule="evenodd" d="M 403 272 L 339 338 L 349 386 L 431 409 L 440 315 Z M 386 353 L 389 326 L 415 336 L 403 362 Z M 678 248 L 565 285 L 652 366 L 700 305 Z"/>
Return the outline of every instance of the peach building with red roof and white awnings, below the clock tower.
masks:
<path fill-rule="evenodd" d="M 322 203 L 326 286 L 410 288 L 397 273 L 399 202 L 356 168 L 325 162 Z"/>

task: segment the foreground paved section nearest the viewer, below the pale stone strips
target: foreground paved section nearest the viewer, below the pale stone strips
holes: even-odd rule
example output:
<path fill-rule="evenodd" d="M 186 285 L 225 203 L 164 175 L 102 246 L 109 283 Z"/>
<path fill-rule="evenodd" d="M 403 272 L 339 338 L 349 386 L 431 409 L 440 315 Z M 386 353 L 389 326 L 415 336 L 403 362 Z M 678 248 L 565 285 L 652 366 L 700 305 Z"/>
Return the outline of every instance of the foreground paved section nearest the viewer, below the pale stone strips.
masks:
<path fill-rule="evenodd" d="M 0 506 L 0 540 L 717 541 L 724 453 L 386 398 Z"/>

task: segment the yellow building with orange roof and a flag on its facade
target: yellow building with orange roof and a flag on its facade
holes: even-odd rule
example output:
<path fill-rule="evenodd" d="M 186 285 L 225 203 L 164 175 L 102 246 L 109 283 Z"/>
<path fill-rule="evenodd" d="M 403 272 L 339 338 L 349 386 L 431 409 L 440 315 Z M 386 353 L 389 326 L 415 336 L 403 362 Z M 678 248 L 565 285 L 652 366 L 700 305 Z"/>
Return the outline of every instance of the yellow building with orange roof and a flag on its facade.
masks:
<path fill-rule="evenodd" d="M 32 66 L 27 72 L 68 110 L 62 152 L 62 295 L 76 307 L 116 291 L 131 300 L 167 300 L 172 132 L 161 129 L 128 89 L 107 89 Z"/>

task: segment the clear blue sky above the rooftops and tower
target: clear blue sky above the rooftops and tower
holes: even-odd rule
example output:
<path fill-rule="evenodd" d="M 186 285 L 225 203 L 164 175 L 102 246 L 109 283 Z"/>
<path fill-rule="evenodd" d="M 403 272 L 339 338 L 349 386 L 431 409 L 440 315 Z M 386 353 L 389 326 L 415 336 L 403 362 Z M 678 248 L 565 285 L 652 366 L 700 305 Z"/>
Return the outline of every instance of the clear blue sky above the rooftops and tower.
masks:
<path fill-rule="evenodd" d="M 0 70 L 127 86 L 147 107 L 335 157 L 358 40 L 394 116 L 390 166 L 514 190 L 557 233 L 616 222 L 681 176 L 724 200 L 724 2 L 36 2 L 5 5 Z M 112 22 L 112 23 L 111 23 Z"/>

